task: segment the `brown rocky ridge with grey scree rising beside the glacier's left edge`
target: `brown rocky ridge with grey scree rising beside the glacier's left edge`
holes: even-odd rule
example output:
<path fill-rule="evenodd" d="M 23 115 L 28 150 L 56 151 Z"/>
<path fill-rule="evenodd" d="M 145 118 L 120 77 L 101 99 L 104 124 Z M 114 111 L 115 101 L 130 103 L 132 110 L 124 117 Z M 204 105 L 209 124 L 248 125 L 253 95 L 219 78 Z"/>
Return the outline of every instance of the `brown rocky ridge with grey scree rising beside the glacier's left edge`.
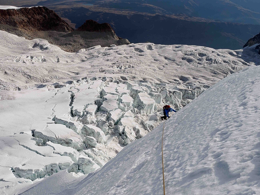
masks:
<path fill-rule="evenodd" d="M 1 9 L 0 6 L 0 30 L 27 39 L 46 39 L 69 52 L 96 45 L 130 44 L 127 39 L 116 36 L 108 23 L 86 21 L 75 31 L 53 10 L 41 6 L 16 9 Z"/>

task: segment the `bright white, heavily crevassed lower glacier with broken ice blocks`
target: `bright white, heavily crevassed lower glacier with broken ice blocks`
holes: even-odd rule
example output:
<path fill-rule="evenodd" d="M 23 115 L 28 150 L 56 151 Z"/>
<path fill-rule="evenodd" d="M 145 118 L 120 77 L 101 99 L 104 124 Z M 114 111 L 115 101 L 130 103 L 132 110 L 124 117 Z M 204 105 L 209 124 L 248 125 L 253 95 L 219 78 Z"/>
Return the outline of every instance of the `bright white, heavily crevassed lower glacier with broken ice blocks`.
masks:
<path fill-rule="evenodd" d="M 29 184 L 64 169 L 89 174 L 102 167 L 159 125 L 165 104 L 179 110 L 192 101 L 185 88 L 170 88 L 103 77 L 1 92 L 3 192 L 14 192 L 5 181 Z"/>

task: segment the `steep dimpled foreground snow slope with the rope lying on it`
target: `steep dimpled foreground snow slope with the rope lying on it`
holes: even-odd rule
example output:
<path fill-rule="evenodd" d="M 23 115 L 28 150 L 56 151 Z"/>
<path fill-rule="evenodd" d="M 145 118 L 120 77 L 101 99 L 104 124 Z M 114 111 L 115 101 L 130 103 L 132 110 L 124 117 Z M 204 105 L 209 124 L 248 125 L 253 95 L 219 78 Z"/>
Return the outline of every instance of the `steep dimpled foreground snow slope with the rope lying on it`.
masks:
<path fill-rule="evenodd" d="M 165 122 L 166 194 L 260 194 L 259 75 L 259 66 L 234 73 Z M 162 127 L 65 189 L 42 182 L 23 195 L 163 194 Z"/>

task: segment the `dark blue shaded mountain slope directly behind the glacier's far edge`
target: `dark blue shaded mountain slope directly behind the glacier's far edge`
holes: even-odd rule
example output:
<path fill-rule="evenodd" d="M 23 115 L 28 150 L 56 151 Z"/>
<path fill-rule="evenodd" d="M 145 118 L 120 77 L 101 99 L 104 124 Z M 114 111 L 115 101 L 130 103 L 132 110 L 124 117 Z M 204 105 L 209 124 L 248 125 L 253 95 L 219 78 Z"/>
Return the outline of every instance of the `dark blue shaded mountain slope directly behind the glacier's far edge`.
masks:
<path fill-rule="evenodd" d="M 133 43 L 149 41 L 155 44 L 187 44 L 234 50 L 241 49 L 260 29 L 259 25 L 216 22 L 183 14 L 147 14 L 96 6 L 49 6 L 75 23 L 76 27 L 86 19 L 109 23 L 118 36 L 126 37 Z"/>

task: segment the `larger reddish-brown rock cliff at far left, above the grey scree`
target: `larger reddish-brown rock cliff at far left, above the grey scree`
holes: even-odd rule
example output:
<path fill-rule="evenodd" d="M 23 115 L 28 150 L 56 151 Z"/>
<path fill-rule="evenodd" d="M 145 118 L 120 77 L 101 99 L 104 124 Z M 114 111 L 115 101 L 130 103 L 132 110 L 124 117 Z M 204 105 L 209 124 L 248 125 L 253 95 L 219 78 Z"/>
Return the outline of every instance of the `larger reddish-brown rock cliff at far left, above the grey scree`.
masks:
<path fill-rule="evenodd" d="M 25 31 L 72 32 L 68 23 L 46 7 L 0 10 L 0 24 Z"/>

